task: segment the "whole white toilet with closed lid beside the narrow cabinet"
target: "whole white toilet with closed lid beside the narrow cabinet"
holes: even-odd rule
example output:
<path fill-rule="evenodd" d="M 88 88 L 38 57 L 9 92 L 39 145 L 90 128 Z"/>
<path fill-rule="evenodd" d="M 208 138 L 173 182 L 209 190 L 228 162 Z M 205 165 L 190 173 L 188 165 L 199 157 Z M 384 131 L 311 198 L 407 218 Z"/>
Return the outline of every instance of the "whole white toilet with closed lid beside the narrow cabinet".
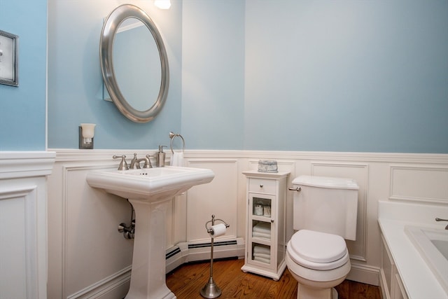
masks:
<path fill-rule="evenodd" d="M 298 281 L 297 299 L 335 299 L 334 286 L 350 271 L 344 239 L 356 239 L 358 184 L 352 179 L 299 176 L 294 179 L 294 229 L 286 265 Z"/>

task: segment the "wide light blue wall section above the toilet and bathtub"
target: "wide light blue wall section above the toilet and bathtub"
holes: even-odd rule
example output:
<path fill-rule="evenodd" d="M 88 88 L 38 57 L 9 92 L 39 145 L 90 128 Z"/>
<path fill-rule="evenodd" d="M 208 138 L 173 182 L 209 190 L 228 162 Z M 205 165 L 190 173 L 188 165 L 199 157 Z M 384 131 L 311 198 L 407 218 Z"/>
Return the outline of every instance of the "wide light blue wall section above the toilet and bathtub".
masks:
<path fill-rule="evenodd" d="M 247 0 L 245 61 L 245 149 L 448 153 L 446 0 Z"/>

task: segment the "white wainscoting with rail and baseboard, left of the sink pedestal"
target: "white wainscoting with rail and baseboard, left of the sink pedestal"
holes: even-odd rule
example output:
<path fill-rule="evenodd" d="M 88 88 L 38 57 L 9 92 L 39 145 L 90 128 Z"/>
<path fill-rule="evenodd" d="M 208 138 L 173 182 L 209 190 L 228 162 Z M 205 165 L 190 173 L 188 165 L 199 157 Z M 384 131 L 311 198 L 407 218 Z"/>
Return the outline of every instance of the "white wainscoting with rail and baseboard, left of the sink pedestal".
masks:
<path fill-rule="evenodd" d="M 110 169 L 111 163 L 57 163 L 55 168 L 56 177 L 50 179 L 60 183 L 61 190 L 60 197 L 57 188 L 50 193 L 49 242 L 50 252 L 61 260 L 50 261 L 49 298 L 98 298 L 123 285 L 121 295 L 125 295 L 134 242 L 117 228 L 120 223 L 130 224 L 132 206 L 85 181 L 87 172 Z"/>

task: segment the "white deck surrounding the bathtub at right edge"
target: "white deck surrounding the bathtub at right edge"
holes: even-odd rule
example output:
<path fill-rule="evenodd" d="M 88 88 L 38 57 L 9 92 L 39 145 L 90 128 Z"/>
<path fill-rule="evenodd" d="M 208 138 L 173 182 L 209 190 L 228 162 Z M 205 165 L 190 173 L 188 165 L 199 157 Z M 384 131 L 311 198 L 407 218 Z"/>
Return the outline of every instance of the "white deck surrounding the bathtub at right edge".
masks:
<path fill-rule="evenodd" d="M 378 222 L 409 299 L 444 299 L 448 293 L 405 233 L 405 225 L 444 228 L 435 217 L 447 218 L 448 205 L 379 202 Z"/>

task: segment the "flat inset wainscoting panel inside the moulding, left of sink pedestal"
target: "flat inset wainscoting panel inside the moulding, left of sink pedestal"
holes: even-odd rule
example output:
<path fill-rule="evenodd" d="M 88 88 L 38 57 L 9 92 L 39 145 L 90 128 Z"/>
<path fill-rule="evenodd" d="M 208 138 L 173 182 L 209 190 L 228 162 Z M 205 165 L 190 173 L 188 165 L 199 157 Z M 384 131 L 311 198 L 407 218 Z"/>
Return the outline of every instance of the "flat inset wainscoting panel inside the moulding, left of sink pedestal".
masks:
<path fill-rule="evenodd" d="M 117 230 L 120 222 L 130 224 L 131 205 L 121 197 L 90 188 L 85 176 L 93 169 L 64 167 L 63 274 L 67 296 L 132 263 L 133 241 L 123 238 Z M 123 217 L 120 222 L 118 215 Z M 118 255 L 121 258 L 116 258 Z"/>

